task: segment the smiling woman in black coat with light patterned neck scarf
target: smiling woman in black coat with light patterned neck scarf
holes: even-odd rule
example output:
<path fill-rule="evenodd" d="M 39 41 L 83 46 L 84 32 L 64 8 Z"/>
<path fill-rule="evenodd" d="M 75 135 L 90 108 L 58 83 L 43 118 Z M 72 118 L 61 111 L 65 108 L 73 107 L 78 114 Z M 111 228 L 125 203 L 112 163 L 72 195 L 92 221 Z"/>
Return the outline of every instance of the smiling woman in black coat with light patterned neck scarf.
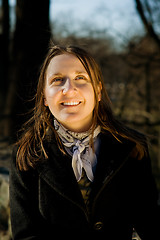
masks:
<path fill-rule="evenodd" d="M 50 48 L 33 117 L 13 153 L 13 239 L 158 239 L 146 138 L 118 122 L 101 71 L 78 47 Z"/>

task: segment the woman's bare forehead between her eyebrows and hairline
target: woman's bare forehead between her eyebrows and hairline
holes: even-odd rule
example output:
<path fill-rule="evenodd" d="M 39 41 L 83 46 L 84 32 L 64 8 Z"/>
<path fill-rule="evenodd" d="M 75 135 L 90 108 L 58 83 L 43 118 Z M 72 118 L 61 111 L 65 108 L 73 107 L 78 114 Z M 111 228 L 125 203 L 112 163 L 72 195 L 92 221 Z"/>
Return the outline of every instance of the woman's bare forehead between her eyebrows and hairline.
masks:
<path fill-rule="evenodd" d="M 53 74 L 56 72 L 65 73 L 72 70 L 86 72 L 83 64 L 76 56 L 66 53 L 55 56 L 51 59 L 47 68 L 47 74 Z"/>

